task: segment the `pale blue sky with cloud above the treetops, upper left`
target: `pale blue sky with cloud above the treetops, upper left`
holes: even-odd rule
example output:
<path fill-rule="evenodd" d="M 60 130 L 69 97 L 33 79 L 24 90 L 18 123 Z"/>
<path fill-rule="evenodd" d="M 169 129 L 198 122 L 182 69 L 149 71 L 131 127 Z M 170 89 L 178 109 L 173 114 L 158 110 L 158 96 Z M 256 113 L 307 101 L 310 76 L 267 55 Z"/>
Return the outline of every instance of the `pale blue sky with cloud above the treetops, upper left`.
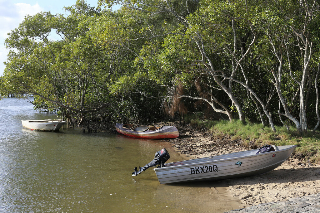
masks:
<path fill-rule="evenodd" d="M 92 7 L 97 7 L 98 0 L 85 0 Z M 4 40 L 8 33 L 17 28 L 26 15 L 35 15 L 41 11 L 50 11 L 52 14 L 66 14 L 63 7 L 72 6 L 76 0 L 0 0 L 0 76 L 3 75 L 4 64 L 8 50 Z"/>

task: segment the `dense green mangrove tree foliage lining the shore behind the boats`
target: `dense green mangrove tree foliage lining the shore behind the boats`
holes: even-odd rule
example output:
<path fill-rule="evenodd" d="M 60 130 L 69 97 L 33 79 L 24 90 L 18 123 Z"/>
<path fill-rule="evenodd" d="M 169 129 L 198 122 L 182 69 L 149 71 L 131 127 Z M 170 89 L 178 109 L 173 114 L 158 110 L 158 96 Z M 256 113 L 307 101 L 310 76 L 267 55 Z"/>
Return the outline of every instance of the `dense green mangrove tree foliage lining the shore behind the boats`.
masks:
<path fill-rule="evenodd" d="M 303 78 L 305 61 L 299 48 L 303 41 L 298 32 L 306 26 L 313 51 L 304 93 L 306 99 L 308 96 L 308 126 L 315 126 L 318 5 L 305 25 L 306 12 L 301 7 L 305 3 L 299 1 L 167 2 L 100 0 L 101 7 L 94 8 L 78 0 L 65 8 L 67 16 L 50 12 L 26 16 L 5 41 L 11 51 L 0 81 L 0 96 L 34 95 L 36 109 L 59 110 L 79 123 L 86 118 L 91 124 L 101 120 L 153 122 L 163 119 L 162 109 L 173 102 L 180 104 L 177 109 L 183 105 L 184 111 L 211 113 L 205 113 L 206 117 L 225 116 L 213 113 L 203 99 L 179 99 L 179 95 L 212 100 L 215 108 L 227 109 L 236 117 L 240 110 L 231 93 L 248 122 L 258 122 L 250 88 L 262 103 L 268 102 L 262 119 L 268 122 L 268 112 L 281 129 L 279 96 L 271 70 L 279 68 L 276 53 L 281 54 L 281 95 L 292 116 L 298 118 L 300 102 L 295 94 L 299 84 L 293 78 Z M 105 9 L 115 4 L 123 6 L 117 11 Z M 55 33 L 61 39 L 53 40 Z M 181 111 L 177 109 L 175 112 Z M 283 120 L 292 126 L 292 121 L 284 116 Z M 198 128 L 219 126 L 215 121 L 195 123 Z M 226 122 L 223 126 L 229 130 L 224 131 L 234 135 L 240 131 L 247 141 L 266 134 L 259 128 L 268 129 L 260 125 L 250 133 L 243 124 L 230 125 Z"/>

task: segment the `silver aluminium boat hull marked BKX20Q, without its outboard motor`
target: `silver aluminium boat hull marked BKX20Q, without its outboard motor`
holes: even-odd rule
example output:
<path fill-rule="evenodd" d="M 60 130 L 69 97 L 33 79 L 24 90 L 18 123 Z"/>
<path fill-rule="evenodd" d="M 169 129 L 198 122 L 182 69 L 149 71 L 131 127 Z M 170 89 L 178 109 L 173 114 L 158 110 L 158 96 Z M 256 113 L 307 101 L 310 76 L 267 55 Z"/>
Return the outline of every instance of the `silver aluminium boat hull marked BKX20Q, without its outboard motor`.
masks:
<path fill-rule="evenodd" d="M 164 164 L 154 169 L 160 183 L 217 180 L 260 175 L 281 165 L 296 145 L 256 154 L 259 149 Z"/>

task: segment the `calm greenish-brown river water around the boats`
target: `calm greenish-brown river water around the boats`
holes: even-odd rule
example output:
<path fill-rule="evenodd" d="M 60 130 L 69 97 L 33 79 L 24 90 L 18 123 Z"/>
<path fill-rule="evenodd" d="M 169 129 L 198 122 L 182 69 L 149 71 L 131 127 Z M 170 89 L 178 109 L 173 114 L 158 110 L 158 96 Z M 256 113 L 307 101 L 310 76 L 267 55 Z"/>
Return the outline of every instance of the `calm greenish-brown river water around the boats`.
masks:
<path fill-rule="evenodd" d="M 223 212 L 239 207 L 223 182 L 160 184 L 150 168 L 132 177 L 170 144 L 107 133 L 22 128 L 47 119 L 26 100 L 0 100 L 0 212 Z M 50 115 L 55 119 L 56 116 Z M 226 194 L 227 193 L 227 194 Z"/>

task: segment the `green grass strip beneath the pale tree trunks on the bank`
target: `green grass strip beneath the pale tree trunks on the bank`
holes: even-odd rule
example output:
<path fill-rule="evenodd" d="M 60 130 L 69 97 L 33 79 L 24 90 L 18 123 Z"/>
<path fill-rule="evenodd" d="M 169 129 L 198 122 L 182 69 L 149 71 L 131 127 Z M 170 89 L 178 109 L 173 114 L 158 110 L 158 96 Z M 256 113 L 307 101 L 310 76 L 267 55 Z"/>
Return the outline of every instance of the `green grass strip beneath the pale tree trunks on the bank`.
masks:
<path fill-rule="evenodd" d="M 276 132 L 273 132 L 269 126 L 247 122 L 243 124 L 240 120 L 229 121 L 212 121 L 203 118 L 189 118 L 191 126 L 199 130 L 208 130 L 212 134 L 228 134 L 232 140 L 242 139 L 243 146 L 246 148 L 261 147 L 264 144 L 271 145 L 293 145 L 297 148 L 293 155 L 301 160 L 310 160 L 311 162 L 320 163 L 320 134 L 313 134 L 312 131 L 299 134 L 294 127 L 287 130 L 283 126 L 276 126 Z M 250 144 L 250 146 L 249 146 Z"/>

